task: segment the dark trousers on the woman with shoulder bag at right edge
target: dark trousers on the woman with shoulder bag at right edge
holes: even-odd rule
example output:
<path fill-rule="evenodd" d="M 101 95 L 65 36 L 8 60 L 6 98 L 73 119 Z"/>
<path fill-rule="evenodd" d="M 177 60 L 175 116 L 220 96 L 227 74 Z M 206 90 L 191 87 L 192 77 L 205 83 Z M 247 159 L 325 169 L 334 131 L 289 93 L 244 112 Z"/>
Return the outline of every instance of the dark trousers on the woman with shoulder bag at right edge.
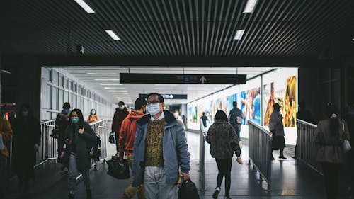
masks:
<path fill-rule="evenodd" d="M 328 199 L 338 197 L 338 175 L 341 164 L 322 162 L 322 171 L 324 172 L 324 186 Z"/>

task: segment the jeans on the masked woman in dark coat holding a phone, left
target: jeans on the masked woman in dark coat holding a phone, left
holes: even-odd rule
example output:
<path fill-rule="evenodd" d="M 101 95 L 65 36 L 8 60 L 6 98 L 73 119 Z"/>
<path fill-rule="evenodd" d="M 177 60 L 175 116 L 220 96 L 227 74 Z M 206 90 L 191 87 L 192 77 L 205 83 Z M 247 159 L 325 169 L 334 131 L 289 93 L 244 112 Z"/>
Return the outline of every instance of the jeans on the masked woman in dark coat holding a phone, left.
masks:
<path fill-rule="evenodd" d="M 82 171 L 81 173 L 82 173 L 82 177 L 84 178 L 86 189 L 91 189 L 89 169 L 87 169 L 86 171 Z M 76 166 L 76 154 L 72 152 L 70 153 L 70 157 L 69 157 L 69 178 L 68 178 L 69 193 L 71 194 L 75 194 L 77 176 L 79 176 L 79 170 L 77 169 Z"/>

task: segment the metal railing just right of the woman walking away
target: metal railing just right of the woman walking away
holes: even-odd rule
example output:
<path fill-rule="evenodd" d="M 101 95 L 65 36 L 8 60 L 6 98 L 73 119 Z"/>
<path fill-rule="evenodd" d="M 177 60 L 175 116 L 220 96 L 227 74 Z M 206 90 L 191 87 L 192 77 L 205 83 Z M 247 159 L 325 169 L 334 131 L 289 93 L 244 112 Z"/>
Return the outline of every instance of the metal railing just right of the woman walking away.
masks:
<path fill-rule="evenodd" d="M 269 130 L 249 120 L 249 164 L 259 172 L 260 180 L 268 183 L 268 191 L 272 184 L 272 134 Z"/>

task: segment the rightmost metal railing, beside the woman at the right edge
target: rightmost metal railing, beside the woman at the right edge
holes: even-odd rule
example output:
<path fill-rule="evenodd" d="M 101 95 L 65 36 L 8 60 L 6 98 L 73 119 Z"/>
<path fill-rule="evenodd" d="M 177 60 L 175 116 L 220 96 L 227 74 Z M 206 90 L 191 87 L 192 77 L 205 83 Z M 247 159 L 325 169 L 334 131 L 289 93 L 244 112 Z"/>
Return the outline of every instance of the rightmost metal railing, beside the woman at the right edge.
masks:
<path fill-rule="evenodd" d="M 316 161 L 317 144 L 314 142 L 316 125 L 297 120 L 296 158 L 321 174 L 321 166 Z"/>

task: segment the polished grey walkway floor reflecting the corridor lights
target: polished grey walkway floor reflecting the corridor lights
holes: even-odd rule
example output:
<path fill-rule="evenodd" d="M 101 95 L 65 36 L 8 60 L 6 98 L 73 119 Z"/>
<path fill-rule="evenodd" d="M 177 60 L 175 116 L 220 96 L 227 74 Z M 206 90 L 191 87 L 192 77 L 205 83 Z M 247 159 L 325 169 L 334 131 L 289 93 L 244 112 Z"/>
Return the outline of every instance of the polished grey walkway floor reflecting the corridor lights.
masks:
<path fill-rule="evenodd" d="M 190 171 L 191 179 L 200 187 L 198 159 L 199 159 L 199 138 L 198 135 L 188 133 L 188 144 L 191 153 Z M 200 191 L 200 196 L 212 198 L 212 193 L 216 186 L 217 166 L 214 159 L 210 157 L 208 146 L 206 153 L 206 191 Z M 114 154 L 114 145 L 110 144 L 110 154 Z M 247 147 L 242 149 L 242 159 L 245 164 L 239 165 L 234 161 L 232 166 L 232 189 L 231 197 L 235 199 L 263 199 L 263 198 L 287 198 L 287 199 L 322 199 L 324 195 L 324 184 L 321 175 L 308 169 L 306 166 L 298 166 L 295 160 L 288 154 L 287 160 L 275 159 L 273 161 L 272 191 L 266 191 L 267 184 L 259 181 L 258 174 L 252 170 L 252 166 L 246 164 Z M 276 157 L 276 154 L 275 154 Z M 18 194 L 16 184 L 17 179 L 13 178 L 8 190 L 7 198 L 35 198 L 35 199 L 57 199 L 67 198 L 67 174 L 60 171 L 60 165 L 55 163 L 45 164 L 45 168 L 40 167 L 35 170 L 36 179 L 30 183 L 30 191 L 27 194 Z M 343 173 L 346 169 L 343 169 Z M 110 199 L 120 198 L 130 180 L 117 180 L 108 176 L 107 165 L 100 163 L 98 170 L 91 170 L 91 181 L 93 198 Z M 343 175 L 343 182 L 348 181 L 348 175 Z M 348 198 L 348 186 L 341 185 L 341 198 Z M 78 192 L 76 198 L 86 198 L 84 183 L 78 181 Z M 219 198 L 224 198 L 224 185 L 219 194 Z M 168 198 L 166 198 L 168 199 Z"/>

